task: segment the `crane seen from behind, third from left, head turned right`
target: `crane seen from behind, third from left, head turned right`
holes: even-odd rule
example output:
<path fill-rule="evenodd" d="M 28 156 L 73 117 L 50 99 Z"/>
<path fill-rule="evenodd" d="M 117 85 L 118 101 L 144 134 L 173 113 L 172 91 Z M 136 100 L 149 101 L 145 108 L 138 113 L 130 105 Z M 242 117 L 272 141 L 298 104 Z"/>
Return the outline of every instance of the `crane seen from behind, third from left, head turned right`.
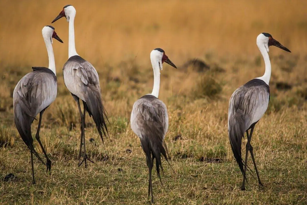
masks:
<path fill-rule="evenodd" d="M 151 181 L 151 171 L 153 160 L 156 159 L 157 175 L 160 179 L 161 154 L 168 162 L 166 153 L 167 148 L 164 137 L 169 126 L 169 118 L 165 104 L 158 99 L 160 89 L 160 70 L 165 62 L 177 69 L 176 65 L 165 55 L 161 48 L 156 48 L 150 53 L 150 60 L 153 67 L 153 90 L 151 94 L 142 96 L 134 102 L 130 125 L 132 131 L 140 138 L 141 146 L 146 155 L 146 162 L 149 171 L 148 197 L 151 193 L 153 203 L 153 189 Z"/>

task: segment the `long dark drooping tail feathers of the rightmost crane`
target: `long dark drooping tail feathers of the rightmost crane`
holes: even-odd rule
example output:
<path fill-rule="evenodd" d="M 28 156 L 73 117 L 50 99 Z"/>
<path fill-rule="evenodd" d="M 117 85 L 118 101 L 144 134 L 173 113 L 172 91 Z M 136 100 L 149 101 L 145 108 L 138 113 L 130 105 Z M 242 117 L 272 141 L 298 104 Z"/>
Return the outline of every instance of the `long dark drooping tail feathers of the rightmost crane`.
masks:
<path fill-rule="evenodd" d="M 231 149 L 235 160 L 237 161 L 239 168 L 243 174 L 243 177 L 246 179 L 244 172 L 244 166 L 246 165 L 244 165 L 241 155 L 241 142 L 245 132 L 243 111 L 238 109 L 235 114 L 229 118 L 228 124 L 228 136 L 230 140 Z"/>

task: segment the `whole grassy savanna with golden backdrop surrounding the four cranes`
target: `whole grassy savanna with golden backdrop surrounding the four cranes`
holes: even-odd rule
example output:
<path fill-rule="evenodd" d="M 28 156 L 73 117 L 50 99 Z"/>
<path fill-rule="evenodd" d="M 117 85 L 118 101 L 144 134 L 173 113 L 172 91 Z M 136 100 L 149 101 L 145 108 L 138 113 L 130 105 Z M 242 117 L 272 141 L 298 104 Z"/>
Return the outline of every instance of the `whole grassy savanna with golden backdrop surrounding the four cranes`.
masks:
<path fill-rule="evenodd" d="M 41 29 L 72 4 L 76 49 L 100 77 L 111 140 L 102 143 L 87 115 L 87 152 L 95 164 L 78 168 L 80 117 L 63 81 L 68 23 L 52 26 L 64 41 L 53 43 L 57 98 L 46 110 L 41 140 L 51 175 L 34 160 L 13 122 L 12 93 L 31 66 L 48 66 Z M 307 202 L 307 2 L 306 1 L 17 1 L 0 2 L 0 176 L 2 204 L 148 204 L 148 170 L 139 139 L 130 129 L 135 100 L 151 93 L 149 54 L 161 47 L 177 65 L 164 65 L 159 98 L 169 112 L 162 181 L 153 172 L 157 204 L 304 204 Z M 227 136 L 228 101 L 245 82 L 264 73 L 256 46 L 267 32 L 289 48 L 270 48 L 269 108 L 252 139 L 264 187 L 252 168 L 246 191 Z M 190 61 L 198 58 L 201 63 Z M 188 62 L 190 61 L 190 62 Z M 194 63 L 193 63 L 194 62 Z M 206 69 L 207 68 L 207 69 Z M 37 121 L 33 122 L 35 136 Z M 91 139 L 92 138 L 92 139 Z M 90 141 L 91 139 L 91 141 Z M 34 140 L 35 147 L 43 156 Z M 245 141 L 243 140 L 243 152 Z"/>

